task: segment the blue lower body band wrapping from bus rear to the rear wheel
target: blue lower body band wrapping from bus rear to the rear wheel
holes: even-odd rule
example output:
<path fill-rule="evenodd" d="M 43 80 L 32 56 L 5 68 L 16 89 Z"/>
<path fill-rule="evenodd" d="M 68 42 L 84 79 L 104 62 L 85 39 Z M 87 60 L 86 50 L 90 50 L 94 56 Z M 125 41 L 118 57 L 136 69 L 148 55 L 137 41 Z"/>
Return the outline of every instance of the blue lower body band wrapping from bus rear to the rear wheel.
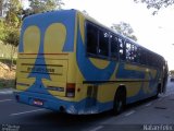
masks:
<path fill-rule="evenodd" d="M 34 102 L 37 99 L 41 100 L 44 105 L 38 106 L 41 108 L 48 108 L 54 111 L 64 111 L 66 114 L 72 115 L 88 115 L 88 114 L 99 114 L 105 110 L 109 110 L 113 106 L 113 102 L 109 103 L 99 103 L 96 102 L 96 99 L 92 98 L 85 98 L 80 102 L 67 102 L 63 99 L 59 99 L 57 97 L 53 97 L 52 95 L 48 94 L 38 94 L 33 92 L 14 92 L 15 96 L 20 96 L 20 99 L 17 102 L 38 106 L 35 105 Z M 90 104 L 96 103 L 96 106 L 90 106 Z M 61 110 L 63 107 L 63 110 Z"/>

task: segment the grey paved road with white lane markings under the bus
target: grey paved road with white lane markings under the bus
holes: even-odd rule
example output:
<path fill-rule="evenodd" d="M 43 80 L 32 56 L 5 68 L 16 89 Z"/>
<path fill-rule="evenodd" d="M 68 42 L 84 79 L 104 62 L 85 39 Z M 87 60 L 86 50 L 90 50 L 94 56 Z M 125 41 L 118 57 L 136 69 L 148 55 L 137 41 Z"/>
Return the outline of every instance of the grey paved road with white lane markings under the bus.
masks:
<path fill-rule="evenodd" d="M 174 83 L 169 82 L 165 95 L 129 105 L 120 116 L 110 112 L 89 116 L 72 116 L 18 104 L 11 91 L 0 91 L 0 130 L 20 131 L 114 131 L 145 130 L 144 126 L 167 126 L 174 131 Z"/>

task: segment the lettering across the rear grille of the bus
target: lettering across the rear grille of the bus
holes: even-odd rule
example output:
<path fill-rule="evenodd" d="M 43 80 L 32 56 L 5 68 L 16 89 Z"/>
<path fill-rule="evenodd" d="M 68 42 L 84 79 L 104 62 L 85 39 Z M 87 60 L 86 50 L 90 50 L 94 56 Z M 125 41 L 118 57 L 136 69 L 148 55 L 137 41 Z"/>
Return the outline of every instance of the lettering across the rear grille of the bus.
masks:
<path fill-rule="evenodd" d="M 38 67 L 38 68 L 28 67 L 27 71 L 28 72 L 38 72 L 38 73 L 54 73 L 54 69 L 49 69 L 49 68 L 47 69 L 47 68 L 41 68 L 41 67 Z"/>

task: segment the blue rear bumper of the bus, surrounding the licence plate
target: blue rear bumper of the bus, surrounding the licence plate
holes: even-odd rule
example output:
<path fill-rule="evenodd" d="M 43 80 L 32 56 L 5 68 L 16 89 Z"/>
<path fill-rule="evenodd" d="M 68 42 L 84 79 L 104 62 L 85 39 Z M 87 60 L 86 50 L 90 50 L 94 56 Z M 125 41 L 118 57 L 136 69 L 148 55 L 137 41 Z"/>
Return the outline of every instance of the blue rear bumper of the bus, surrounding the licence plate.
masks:
<path fill-rule="evenodd" d="M 18 103 L 72 115 L 98 114 L 101 111 L 99 111 L 98 105 L 86 108 L 86 99 L 80 102 L 67 102 L 51 95 L 30 92 L 14 92 L 14 96 Z M 42 105 L 36 105 L 34 103 L 36 99 L 42 102 Z"/>

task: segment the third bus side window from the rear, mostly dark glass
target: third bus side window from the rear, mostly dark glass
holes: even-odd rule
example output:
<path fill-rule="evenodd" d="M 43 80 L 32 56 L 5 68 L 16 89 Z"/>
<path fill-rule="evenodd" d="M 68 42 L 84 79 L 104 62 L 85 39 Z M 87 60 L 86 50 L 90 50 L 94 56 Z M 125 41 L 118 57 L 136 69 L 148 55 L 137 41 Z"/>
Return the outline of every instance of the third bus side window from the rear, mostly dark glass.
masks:
<path fill-rule="evenodd" d="M 111 58 L 117 59 L 119 38 L 114 35 L 111 35 L 110 38 L 111 38 Z"/>

